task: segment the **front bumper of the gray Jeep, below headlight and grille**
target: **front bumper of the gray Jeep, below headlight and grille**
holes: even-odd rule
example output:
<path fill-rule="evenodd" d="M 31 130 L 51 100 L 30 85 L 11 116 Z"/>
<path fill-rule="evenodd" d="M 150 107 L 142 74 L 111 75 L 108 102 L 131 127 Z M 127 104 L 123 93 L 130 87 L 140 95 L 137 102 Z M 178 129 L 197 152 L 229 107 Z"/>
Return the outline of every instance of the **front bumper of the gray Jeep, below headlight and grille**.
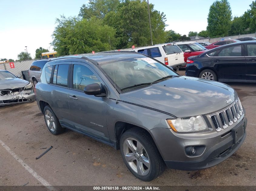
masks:
<path fill-rule="evenodd" d="M 216 137 L 179 137 L 175 138 L 174 140 L 170 140 L 170 134 L 163 128 L 152 129 L 151 133 L 154 139 L 160 138 L 161 140 L 160 142 L 157 142 L 157 139 L 155 139 L 155 142 L 167 167 L 177 170 L 200 170 L 217 165 L 234 154 L 234 152 L 237 151 L 244 142 L 246 137 L 246 125 L 247 119 L 244 116 L 244 118 L 238 124 L 236 124 L 236 126 L 232 127 L 233 130 L 240 126 L 244 127 L 244 135 L 236 143 L 234 143 L 232 129 L 228 129 L 228 131 L 223 132 Z M 204 135 L 205 134 L 202 133 L 202 136 Z M 169 138 L 167 138 L 167 136 L 169 136 Z M 166 142 L 167 139 L 169 139 L 168 142 Z M 205 146 L 205 150 L 200 156 L 191 157 L 186 154 L 185 148 L 187 146 L 198 145 Z"/>

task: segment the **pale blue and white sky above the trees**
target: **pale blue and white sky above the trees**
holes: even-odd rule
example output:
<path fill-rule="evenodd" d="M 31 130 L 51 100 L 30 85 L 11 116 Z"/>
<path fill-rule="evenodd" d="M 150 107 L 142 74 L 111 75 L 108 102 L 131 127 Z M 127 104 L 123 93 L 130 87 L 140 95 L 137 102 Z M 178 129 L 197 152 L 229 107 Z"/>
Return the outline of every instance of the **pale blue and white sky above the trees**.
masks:
<path fill-rule="evenodd" d="M 166 14 L 166 30 L 181 35 L 206 30 L 207 17 L 213 0 L 149 0 L 155 9 Z M 232 15 L 240 16 L 252 0 L 229 0 Z M 32 58 L 39 47 L 53 51 L 50 43 L 60 15 L 77 16 L 88 0 L 0 0 L 0 59 L 17 59 L 25 51 Z"/>

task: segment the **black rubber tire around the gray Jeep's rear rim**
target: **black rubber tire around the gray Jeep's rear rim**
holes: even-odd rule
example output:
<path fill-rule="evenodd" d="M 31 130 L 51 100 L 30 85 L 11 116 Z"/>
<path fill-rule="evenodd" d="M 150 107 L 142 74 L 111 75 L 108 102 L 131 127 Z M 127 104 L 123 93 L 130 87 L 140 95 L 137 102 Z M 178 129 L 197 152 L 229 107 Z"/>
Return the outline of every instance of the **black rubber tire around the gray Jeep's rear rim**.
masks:
<path fill-rule="evenodd" d="M 50 111 L 50 113 L 52 114 L 52 117 L 54 118 L 54 122 L 55 122 L 55 129 L 51 129 L 47 123 L 47 120 L 49 119 L 46 119 L 46 115 L 48 113 L 48 111 Z M 44 118 L 45 118 L 45 124 L 48 128 L 48 130 L 53 134 L 53 135 L 58 135 L 58 134 L 61 134 L 65 128 L 63 128 L 61 125 L 60 125 L 60 122 L 59 122 L 59 119 L 57 118 L 57 116 L 55 115 L 55 113 L 53 112 L 52 108 L 47 105 L 45 106 L 44 108 Z"/>

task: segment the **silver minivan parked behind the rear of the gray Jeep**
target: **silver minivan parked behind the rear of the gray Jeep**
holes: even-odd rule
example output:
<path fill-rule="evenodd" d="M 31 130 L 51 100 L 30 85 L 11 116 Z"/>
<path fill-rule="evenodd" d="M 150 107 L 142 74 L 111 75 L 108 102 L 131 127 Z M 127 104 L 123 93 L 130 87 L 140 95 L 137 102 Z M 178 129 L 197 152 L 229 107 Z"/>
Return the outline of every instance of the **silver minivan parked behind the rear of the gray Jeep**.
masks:
<path fill-rule="evenodd" d="M 40 80 L 42 69 L 45 66 L 45 63 L 48 62 L 48 59 L 41 59 L 41 60 L 35 60 L 30 65 L 30 68 L 28 70 L 29 80 L 32 84 L 35 85 Z"/>

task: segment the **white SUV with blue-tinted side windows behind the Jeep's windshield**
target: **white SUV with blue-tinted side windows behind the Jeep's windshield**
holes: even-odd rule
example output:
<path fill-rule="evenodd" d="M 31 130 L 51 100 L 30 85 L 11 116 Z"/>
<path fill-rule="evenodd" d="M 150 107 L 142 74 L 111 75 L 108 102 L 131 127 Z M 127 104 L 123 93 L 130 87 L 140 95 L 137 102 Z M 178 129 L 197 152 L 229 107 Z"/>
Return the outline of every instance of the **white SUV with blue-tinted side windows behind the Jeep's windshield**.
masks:
<path fill-rule="evenodd" d="M 183 51 L 173 43 L 145 46 L 131 51 L 151 56 L 165 65 L 171 66 L 174 70 L 186 65 Z"/>

